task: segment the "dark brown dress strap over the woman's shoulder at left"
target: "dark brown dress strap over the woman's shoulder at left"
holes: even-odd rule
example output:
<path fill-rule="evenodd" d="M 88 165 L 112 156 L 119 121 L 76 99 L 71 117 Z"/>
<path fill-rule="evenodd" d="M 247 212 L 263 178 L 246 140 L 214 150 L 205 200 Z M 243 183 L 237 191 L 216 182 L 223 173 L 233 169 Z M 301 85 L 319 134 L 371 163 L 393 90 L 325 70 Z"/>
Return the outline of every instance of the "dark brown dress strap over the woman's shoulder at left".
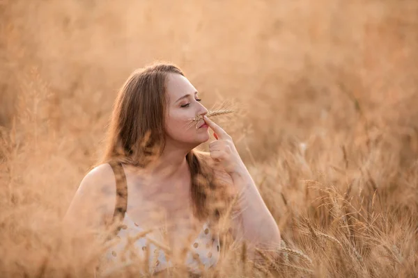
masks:
<path fill-rule="evenodd" d="M 114 224 L 116 221 L 123 222 L 123 218 L 125 218 L 127 210 L 127 182 L 125 171 L 123 171 L 121 162 L 112 161 L 109 165 L 114 172 L 116 180 L 116 204 L 114 208 L 114 215 L 111 220 L 111 224 Z M 121 227 L 118 227 L 115 232 L 117 233 L 120 229 Z"/>

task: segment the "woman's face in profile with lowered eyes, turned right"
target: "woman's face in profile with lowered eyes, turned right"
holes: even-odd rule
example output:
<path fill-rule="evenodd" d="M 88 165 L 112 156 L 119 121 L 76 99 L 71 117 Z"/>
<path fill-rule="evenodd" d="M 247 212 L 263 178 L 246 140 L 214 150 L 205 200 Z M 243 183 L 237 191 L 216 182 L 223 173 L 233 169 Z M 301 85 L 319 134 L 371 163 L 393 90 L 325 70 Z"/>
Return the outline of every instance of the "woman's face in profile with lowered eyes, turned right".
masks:
<path fill-rule="evenodd" d="M 169 74 L 166 84 L 168 107 L 165 115 L 165 130 L 169 140 L 196 147 L 209 140 L 208 126 L 190 120 L 208 113 L 200 103 L 199 93 L 185 76 Z M 196 129 L 196 127 L 198 127 Z"/>

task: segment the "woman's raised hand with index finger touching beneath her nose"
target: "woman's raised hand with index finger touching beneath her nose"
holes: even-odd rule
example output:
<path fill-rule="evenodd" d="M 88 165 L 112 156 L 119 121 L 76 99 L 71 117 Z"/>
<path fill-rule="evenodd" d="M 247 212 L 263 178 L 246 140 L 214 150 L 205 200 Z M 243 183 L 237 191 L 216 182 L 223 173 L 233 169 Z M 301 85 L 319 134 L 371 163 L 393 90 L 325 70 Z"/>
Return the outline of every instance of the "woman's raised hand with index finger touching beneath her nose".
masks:
<path fill-rule="evenodd" d="M 238 154 L 231 136 L 229 136 L 222 127 L 209 120 L 206 115 L 203 116 L 203 120 L 208 124 L 210 129 L 215 131 L 213 136 L 217 140 L 210 142 L 209 152 L 210 157 L 224 168 L 225 172 L 232 175 L 235 173 L 242 172 L 245 169 L 245 165 Z"/>

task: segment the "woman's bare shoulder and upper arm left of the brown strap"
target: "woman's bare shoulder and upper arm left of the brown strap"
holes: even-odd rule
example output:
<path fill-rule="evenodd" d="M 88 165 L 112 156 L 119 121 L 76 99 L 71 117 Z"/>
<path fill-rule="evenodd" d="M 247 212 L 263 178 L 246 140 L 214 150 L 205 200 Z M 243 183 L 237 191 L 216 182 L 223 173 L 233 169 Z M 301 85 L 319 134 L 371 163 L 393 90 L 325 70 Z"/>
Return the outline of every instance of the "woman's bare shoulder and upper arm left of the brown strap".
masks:
<path fill-rule="evenodd" d="M 116 196 L 116 180 L 108 163 L 94 167 L 82 179 L 70 207 L 66 220 L 82 221 L 97 226 L 111 217 Z"/>

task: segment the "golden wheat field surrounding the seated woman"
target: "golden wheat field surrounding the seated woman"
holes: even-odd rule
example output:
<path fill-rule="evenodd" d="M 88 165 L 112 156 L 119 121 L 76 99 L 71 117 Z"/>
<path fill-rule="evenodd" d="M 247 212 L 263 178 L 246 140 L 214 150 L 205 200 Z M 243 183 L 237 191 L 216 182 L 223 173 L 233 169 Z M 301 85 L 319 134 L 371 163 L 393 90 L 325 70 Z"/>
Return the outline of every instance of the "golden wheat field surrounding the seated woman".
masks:
<path fill-rule="evenodd" d="M 92 277 L 61 219 L 118 88 L 179 65 L 277 220 L 211 277 L 417 277 L 418 1 L 0 1 L 0 276 Z M 203 145 L 202 149 L 206 146 Z M 121 277 L 132 277 L 129 271 Z"/>

